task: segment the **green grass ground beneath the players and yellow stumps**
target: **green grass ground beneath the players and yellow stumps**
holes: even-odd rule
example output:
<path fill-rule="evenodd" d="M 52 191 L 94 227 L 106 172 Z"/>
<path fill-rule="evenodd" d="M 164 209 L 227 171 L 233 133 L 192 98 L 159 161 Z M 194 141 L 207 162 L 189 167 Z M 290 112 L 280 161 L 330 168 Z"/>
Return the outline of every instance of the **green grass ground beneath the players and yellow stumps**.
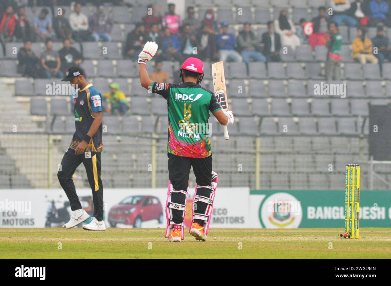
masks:
<path fill-rule="evenodd" d="M 391 258 L 390 228 L 360 229 L 358 240 L 338 231 L 211 229 L 202 242 L 186 230 L 185 240 L 168 243 L 164 229 L 0 229 L 0 258 Z"/>

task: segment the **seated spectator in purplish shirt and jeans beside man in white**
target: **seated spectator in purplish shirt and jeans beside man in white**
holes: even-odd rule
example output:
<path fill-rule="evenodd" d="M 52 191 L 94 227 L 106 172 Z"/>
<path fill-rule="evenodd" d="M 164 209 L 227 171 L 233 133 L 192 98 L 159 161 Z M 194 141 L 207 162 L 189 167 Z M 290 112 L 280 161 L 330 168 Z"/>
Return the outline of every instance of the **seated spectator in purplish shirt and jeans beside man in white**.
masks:
<path fill-rule="evenodd" d="M 89 26 L 92 38 L 95 42 L 102 39 L 103 41 L 110 42 L 111 29 L 113 29 L 113 21 L 104 13 L 104 7 L 99 6 L 98 11 L 90 16 Z"/>

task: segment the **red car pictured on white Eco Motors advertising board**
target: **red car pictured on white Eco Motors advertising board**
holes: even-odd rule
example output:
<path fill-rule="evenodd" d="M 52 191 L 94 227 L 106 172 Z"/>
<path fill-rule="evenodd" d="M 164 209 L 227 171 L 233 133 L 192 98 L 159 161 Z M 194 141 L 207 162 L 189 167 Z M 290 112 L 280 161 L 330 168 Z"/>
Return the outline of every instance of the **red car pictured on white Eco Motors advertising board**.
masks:
<path fill-rule="evenodd" d="M 162 223 L 163 208 L 157 197 L 130 196 L 111 207 L 108 220 L 111 227 L 116 227 L 117 223 L 124 223 L 140 228 L 141 222 L 147 220 L 158 220 Z"/>

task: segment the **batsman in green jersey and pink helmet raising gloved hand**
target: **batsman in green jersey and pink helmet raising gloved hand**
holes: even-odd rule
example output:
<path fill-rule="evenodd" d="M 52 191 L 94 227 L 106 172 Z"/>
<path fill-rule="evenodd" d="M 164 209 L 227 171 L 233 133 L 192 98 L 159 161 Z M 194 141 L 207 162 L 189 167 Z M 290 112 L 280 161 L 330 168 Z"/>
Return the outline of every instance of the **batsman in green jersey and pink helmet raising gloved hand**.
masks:
<path fill-rule="evenodd" d="M 222 111 L 213 92 L 200 86 L 204 77 L 200 59 L 189 57 L 182 64 L 179 71 L 181 84 L 153 82 L 145 64 L 151 61 L 157 49 L 155 42 L 145 43 L 138 55 L 138 70 L 143 88 L 151 89 L 152 93 L 160 94 L 167 101 L 169 188 L 165 237 L 172 242 L 184 239 L 183 218 L 190 168 L 193 167 L 197 185 L 189 232 L 195 239 L 206 241 L 218 177 L 212 172 L 212 152 L 205 127 L 208 126 L 209 111 L 222 125 L 234 122 L 233 113 Z"/>

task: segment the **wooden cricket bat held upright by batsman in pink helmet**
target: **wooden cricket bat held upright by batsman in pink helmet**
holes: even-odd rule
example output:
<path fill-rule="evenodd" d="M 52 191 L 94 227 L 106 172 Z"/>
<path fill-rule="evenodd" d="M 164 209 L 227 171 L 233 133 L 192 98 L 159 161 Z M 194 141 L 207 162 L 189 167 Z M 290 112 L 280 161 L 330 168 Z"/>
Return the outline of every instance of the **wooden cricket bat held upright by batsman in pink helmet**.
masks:
<path fill-rule="evenodd" d="M 215 97 L 217 97 L 221 109 L 223 111 L 229 111 L 227 101 L 227 89 L 225 87 L 224 65 L 222 61 L 212 64 L 212 77 Z M 224 138 L 226 140 L 230 139 L 230 136 L 228 135 L 227 125 L 224 125 L 223 128 Z"/>

